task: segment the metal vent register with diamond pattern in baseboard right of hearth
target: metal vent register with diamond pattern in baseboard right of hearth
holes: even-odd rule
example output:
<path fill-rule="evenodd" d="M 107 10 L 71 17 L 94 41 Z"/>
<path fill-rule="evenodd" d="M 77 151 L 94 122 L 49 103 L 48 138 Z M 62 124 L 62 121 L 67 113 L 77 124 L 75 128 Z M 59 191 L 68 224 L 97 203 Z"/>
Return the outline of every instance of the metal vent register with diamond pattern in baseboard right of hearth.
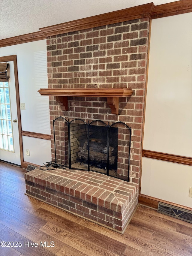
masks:
<path fill-rule="evenodd" d="M 192 223 L 192 211 L 176 208 L 166 203 L 159 203 L 158 212 Z"/>

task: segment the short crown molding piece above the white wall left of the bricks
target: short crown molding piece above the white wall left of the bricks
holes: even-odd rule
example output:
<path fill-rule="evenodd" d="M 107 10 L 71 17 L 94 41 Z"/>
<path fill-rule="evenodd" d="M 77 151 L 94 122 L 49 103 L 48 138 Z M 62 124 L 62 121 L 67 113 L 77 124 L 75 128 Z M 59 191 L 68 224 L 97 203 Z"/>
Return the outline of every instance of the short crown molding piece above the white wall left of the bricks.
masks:
<path fill-rule="evenodd" d="M 46 39 L 46 36 L 41 31 L 38 31 L 38 32 L 29 33 L 25 35 L 19 35 L 19 36 L 1 39 L 0 47 L 29 43 L 29 42 L 43 40 L 43 39 Z"/>

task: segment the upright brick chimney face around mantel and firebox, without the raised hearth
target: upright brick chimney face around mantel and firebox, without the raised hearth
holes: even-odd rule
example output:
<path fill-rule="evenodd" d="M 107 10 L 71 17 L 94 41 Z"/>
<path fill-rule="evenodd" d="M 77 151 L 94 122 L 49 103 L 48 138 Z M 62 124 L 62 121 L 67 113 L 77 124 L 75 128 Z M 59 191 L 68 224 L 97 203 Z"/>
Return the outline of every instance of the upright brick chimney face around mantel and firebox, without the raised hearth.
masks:
<path fill-rule="evenodd" d="M 47 38 L 49 88 L 130 88 L 131 97 L 119 98 L 119 114 L 111 114 L 105 97 L 68 97 L 68 111 L 62 111 L 54 96 L 49 96 L 52 121 L 94 119 L 122 121 L 132 129 L 130 182 L 139 184 L 141 136 L 146 82 L 149 19 L 77 31 Z M 57 159 L 65 161 L 64 130 L 58 126 Z"/>

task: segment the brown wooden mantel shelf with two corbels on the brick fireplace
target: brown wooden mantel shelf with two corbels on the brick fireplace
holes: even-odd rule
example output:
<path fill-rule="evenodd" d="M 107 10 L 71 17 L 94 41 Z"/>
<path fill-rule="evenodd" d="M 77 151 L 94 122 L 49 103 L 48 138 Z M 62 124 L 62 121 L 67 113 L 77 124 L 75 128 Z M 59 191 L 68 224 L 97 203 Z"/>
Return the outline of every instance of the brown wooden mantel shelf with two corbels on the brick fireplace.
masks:
<path fill-rule="evenodd" d="M 86 88 L 86 89 L 40 89 L 41 95 L 55 96 L 56 101 L 61 105 L 62 110 L 68 110 L 68 96 L 78 97 L 107 97 L 107 103 L 111 108 L 111 113 L 119 113 L 119 97 L 128 97 L 133 94 L 132 89 L 127 88 Z"/>

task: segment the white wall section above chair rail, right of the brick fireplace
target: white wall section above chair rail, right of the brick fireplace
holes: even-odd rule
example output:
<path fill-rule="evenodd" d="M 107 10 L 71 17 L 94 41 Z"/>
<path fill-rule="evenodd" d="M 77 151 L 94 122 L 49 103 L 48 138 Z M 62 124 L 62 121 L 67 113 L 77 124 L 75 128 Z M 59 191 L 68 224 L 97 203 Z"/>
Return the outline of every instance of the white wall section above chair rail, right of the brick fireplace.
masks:
<path fill-rule="evenodd" d="M 192 157 L 192 13 L 152 20 L 143 149 Z"/>

